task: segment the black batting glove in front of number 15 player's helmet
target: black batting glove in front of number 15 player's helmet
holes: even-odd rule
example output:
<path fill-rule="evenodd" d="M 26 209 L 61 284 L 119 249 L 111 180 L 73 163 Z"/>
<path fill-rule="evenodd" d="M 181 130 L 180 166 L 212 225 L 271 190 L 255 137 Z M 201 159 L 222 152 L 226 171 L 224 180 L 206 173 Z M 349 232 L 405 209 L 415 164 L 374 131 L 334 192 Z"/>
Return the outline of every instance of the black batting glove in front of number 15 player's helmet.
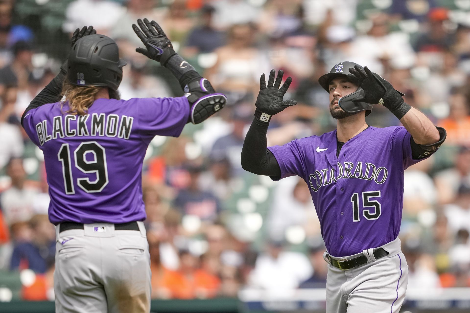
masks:
<path fill-rule="evenodd" d="M 380 75 L 371 72 L 367 66 L 363 68 L 356 65 L 354 69 L 349 69 L 349 72 L 351 74 L 348 74 L 348 76 L 354 80 L 359 80 L 360 88 L 364 90 L 364 95 L 355 97 L 352 102 L 383 104 L 398 119 L 402 118 L 411 108 L 403 100 L 403 93 L 396 91 L 392 84 Z"/>

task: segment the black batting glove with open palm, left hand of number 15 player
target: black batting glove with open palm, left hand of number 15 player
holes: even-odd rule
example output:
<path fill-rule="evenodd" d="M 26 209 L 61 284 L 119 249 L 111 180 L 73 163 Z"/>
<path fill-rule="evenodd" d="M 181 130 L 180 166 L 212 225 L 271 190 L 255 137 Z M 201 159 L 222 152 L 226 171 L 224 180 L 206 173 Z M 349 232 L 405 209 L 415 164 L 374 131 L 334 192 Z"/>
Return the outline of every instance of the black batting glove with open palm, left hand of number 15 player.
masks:
<path fill-rule="evenodd" d="M 287 89 L 289 89 L 290 83 L 292 83 L 292 78 L 290 78 L 290 76 L 287 77 L 281 89 L 279 89 L 284 72 L 279 70 L 276 81 L 274 81 L 275 75 L 276 70 L 272 69 L 269 73 L 267 86 L 264 74 L 262 74 L 259 79 L 260 87 L 258 98 L 256 99 L 255 117 L 262 122 L 269 122 L 272 115 L 278 114 L 286 107 L 295 106 L 297 104 L 296 100 L 282 101 Z"/>

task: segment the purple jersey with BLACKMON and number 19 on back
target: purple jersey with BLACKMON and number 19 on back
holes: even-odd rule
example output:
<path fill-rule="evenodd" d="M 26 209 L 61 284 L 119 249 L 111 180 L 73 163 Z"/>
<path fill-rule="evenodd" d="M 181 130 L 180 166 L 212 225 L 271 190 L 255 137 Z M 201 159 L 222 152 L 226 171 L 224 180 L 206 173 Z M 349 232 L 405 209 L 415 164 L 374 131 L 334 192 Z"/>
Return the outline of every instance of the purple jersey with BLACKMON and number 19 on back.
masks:
<path fill-rule="evenodd" d="M 141 172 L 156 135 L 178 137 L 189 103 L 180 98 L 97 99 L 86 115 L 65 103 L 45 104 L 24 117 L 24 129 L 44 152 L 49 220 L 125 223 L 145 220 Z"/>

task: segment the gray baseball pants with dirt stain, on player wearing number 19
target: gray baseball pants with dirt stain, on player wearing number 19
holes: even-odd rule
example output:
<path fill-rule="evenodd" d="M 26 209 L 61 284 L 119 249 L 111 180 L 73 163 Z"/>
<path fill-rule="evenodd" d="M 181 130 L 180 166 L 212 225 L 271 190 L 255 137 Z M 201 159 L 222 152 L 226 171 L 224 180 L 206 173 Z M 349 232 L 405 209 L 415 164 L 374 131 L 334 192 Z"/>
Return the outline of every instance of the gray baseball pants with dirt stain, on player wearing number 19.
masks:
<path fill-rule="evenodd" d="M 149 313 L 149 244 L 138 224 L 139 231 L 109 223 L 56 227 L 56 313 Z"/>

